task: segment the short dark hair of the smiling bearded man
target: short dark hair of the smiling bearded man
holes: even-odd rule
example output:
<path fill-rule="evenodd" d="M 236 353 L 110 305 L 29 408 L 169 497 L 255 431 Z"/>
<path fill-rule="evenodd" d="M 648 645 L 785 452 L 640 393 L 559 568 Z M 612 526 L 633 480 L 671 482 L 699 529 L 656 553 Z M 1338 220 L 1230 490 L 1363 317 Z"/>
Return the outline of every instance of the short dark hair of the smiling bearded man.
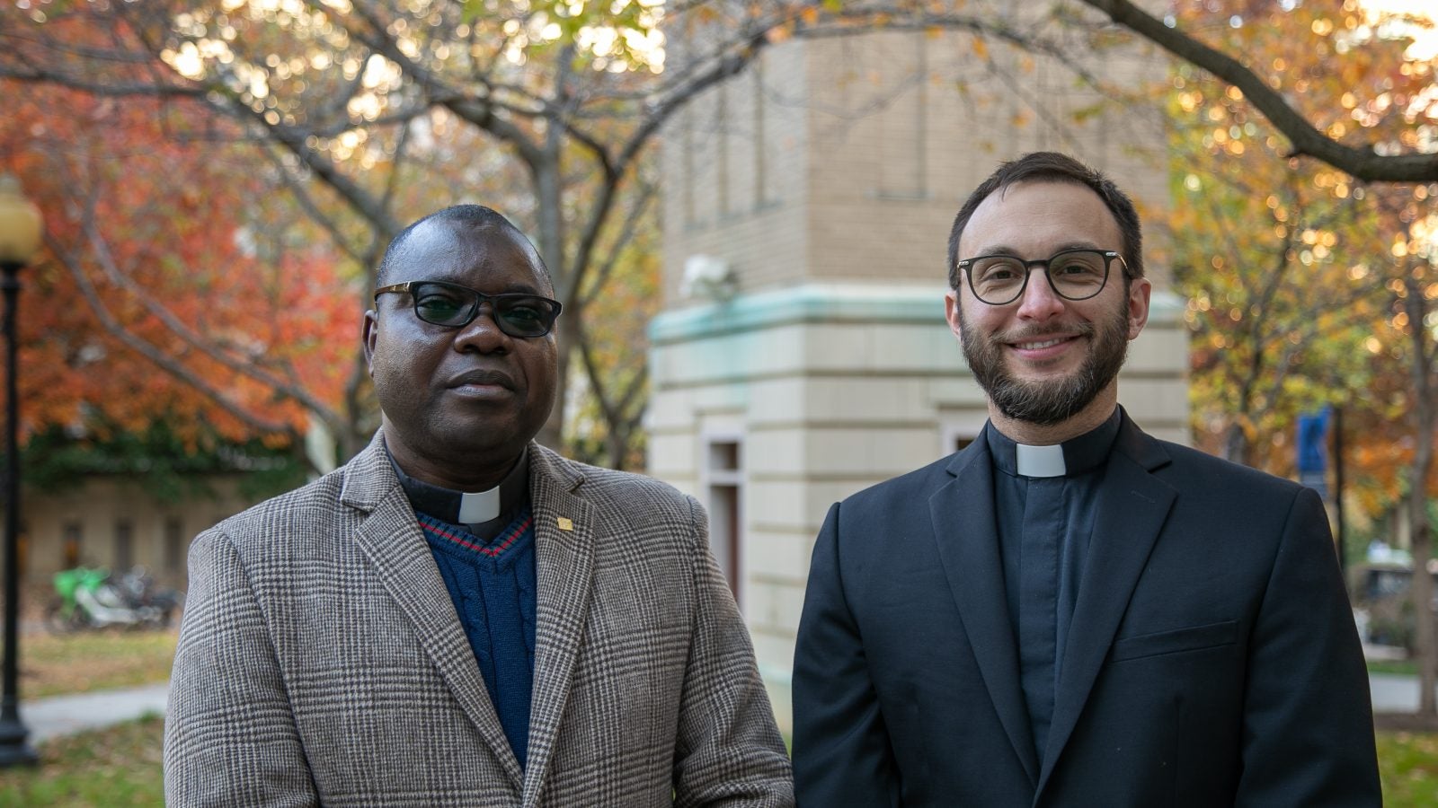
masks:
<path fill-rule="evenodd" d="M 949 230 L 951 288 L 958 289 L 962 280 L 958 266 L 959 236 L 963 234 L 963 229 L 969 224 L 969 219 L 974 217 L 974 211 L 994 191 L 1002 191 L 1009 185 L 1031 181 L 1071 183 L 1074 185 L 1084 185 L 1099 194 L 1099 198 L 1103 200 L 1103 204 L 1109 207 L 1109 213 L 1119 223 L 1119 234 L 1123 237 L 1119 254 L 1123 256 L 1123 263 L 1129 266 L 1129 277 L 1143 277 L 1143 227 L 1139 224 L 1139 211 L 1133 208 L 1133 200 L 1120 191 L 1113 184 L 1113 180 L 1104 177 L 1103 173 L 1078 162 L 1067 154 L 1034 151 L 1018 160 L 999 164 L 998 170 L 989 174 L 988 180 L 984 180 L 978 188 L 974 188 L 969 198 L 963 201 L 963 207 L 959 208 L 959 214 L 953 217 L 953 227 Z"/>

